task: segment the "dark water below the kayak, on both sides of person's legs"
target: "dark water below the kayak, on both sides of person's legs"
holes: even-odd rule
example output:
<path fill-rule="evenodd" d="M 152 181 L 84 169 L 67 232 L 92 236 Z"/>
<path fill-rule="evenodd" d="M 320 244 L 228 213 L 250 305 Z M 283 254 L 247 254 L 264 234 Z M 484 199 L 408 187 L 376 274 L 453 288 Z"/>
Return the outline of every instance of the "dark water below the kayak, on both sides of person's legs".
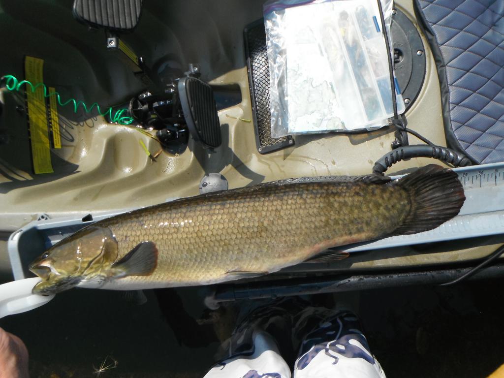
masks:
<path fill-rule="evenodd" d="M 358 299 L 364 332 L 388 378 L 486 377 L 504 363 L 501 285 L 368 290 L 344 300 Z M 146 295 L 138 305 L 120 292 L 73 289 L 2 319 L 0 327 L 26 343 L 32 378 L 203 377 L 242 304 L 205 310 L 197 288 Z M 339 296 L 312 299 L 334 303 Z M 105 359 L 104 366 L 116 366 L 96 373 Z"/>

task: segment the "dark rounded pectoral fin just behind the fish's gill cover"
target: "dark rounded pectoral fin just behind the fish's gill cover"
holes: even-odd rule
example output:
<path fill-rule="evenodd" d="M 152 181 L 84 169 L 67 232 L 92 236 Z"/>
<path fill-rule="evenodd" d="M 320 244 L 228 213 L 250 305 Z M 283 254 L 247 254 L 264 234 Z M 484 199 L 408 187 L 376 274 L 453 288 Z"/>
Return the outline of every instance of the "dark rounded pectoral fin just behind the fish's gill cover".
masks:
<path fill-rule="evenodd" d="M 115 277 L 149 276 L 157 266 L 158 250 L 152 241 L 144 241 L 112 264 Z"/>

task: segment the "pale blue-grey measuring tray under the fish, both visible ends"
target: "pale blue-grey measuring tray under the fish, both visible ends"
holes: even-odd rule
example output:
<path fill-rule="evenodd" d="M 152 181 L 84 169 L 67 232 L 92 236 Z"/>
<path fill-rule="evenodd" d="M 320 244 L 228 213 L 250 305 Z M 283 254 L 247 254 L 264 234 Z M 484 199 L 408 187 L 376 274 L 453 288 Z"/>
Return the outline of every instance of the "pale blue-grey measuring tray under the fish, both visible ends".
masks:
<path fill-rule="evenodd" d="M 504 164 L 475 165 L 455 168 L 454 171 L 459 175 L 466 196 L 466 201 L 458 216 L 430 231 L 351 244 L 341 249 L 354 253 L 370 249 L 504 234 Z M 401 176 L 392 178 L 398 177 Z M 14 278 L 19 280 L 32 277 L 33 275 L 28 271 L 28 265 L 62 238 L 95 221 L 119 213 L 98 216 L 82 214 L 82 217 L 28 223 L 14 232 L 8 241 Z"/>

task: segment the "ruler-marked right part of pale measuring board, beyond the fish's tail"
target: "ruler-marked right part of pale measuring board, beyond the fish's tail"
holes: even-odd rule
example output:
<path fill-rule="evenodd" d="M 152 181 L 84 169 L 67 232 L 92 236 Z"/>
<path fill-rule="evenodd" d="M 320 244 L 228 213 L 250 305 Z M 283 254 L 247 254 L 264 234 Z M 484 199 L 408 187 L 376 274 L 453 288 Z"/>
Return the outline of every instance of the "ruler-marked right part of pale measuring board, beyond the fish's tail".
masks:
<path fill-rule="evenodd" d="M 504 163 L 455 168 L 466 201 L 459 215 L 430 231 L 391 236 L 342 248 L 349 253 L 504 234 Z M 394 176 L 393 179 L 401 176 Z"/>

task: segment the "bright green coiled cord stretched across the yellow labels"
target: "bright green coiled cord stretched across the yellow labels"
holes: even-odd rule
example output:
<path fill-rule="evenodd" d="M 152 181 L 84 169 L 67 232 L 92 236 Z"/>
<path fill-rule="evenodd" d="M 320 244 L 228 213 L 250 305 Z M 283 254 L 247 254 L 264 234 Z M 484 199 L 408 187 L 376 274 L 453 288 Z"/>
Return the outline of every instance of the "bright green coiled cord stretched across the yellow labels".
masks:
<path fill-rule="evenodd" d="M 25 85 L 25 87 L 29 86 L 31 88 L 32 93 L 34 93 L 38 87 L 42 87 L 44 89 L 44 97 L 56 96 L 56 99 L 58 100 L 58 104 L 60 106 L 66 106 L 72 102 L 74 104 L 74 112 L 75 113 L 77 113 L 77 111 L 79 110 L 80 105 L 82 105 L 82 108 L 84 109 L 84 111 L 86 113 L 90 113 L 91 110 L 93 110 L 93 108 L 96 107 L 96 110 L 98 111 L 98 113 L 100 115 L 105 116 L 108 114 L 108 116 L 110 118 L 110 122 L 117 122 L 117 123 L 124 124 L 124 125 L 128 125 L 133 122 L 133 118 L 131 116 L 124 115 L 124 112 L 128 112 L 128 109 L 125 109 L 125 108 L 118 109 L 114 112 L 112 110 L 112 107 L 109 107 L 106 112 L 102 112 L 100 109 L 100 105 L 98 105 L 96 102 L 93 103 L 89 108 L 84 102 L 76 101 L 73 98 L 71 98 L 68 101 L 62 102 L 61 97 L 59 96 L 59 93 L 58 92 L 48 93 L 47 87 L 43 83 L 38 83 L 36 85 L 33 85 L 28 80 L 19 81 L 13 75 L 5 75 L 2 77 L 2 80 L 5 80 L 5 86 L 10 91 L 19 91 L 23 84 Z"/>

